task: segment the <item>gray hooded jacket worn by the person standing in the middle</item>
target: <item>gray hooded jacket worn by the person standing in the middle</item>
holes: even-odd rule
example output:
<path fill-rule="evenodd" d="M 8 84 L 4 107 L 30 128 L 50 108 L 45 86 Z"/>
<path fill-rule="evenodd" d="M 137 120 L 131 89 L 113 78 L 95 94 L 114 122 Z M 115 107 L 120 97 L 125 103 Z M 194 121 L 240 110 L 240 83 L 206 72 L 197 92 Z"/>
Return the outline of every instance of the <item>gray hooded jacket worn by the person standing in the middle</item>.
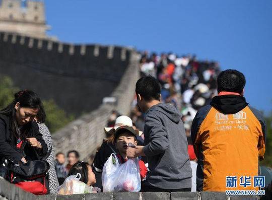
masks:
<path fill-rule="evenodd" d="M 162 189 L 191 187 L 188 143 L 177 109 L 162 103 L 152 106 L 146 113 L 144 135 L 147 181 Z"/>

